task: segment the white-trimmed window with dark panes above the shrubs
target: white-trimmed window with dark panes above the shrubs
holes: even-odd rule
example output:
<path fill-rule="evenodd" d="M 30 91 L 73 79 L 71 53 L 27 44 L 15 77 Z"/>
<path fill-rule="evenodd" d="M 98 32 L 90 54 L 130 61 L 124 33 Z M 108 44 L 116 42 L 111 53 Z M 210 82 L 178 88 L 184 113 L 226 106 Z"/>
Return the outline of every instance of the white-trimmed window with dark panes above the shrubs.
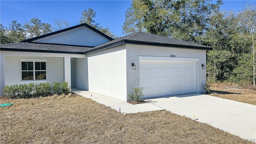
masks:
<path fill-rule="evenodd" d="M 46 80 L 46 60 L 21 59 L 21 80 Z"/>

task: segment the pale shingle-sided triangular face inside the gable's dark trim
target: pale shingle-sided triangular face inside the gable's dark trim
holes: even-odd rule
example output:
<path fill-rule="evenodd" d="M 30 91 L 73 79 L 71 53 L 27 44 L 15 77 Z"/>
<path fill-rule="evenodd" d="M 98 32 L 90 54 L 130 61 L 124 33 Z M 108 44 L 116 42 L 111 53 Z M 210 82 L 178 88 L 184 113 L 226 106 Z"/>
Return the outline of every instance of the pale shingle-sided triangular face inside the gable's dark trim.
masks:
<path fill-rule="evenodd" d="M 107 38 L 104 38 L 100 34 L 97 34 L 96 32 L 83 26 L 60 34 L 34 40 L 33 42 L 71 44 L 79 46 L 98 46 L 109 41 L 110 40 Z"/>

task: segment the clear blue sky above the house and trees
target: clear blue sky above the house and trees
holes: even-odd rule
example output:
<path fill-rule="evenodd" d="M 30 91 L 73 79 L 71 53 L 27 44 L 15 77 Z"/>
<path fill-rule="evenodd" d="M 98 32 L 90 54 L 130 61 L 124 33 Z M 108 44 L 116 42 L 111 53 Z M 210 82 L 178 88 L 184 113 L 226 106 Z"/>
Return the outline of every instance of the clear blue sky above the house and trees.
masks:
<path fill-rule="evenodd" d="M 214 2 L 214 1 L 213 1 Z M 256 4 L 256 1 L 224 0 L 221 10 L 239 11 L 243 5 L 249 2 Z M 68 20 L 71 26 L 75 26 L 80 20 L 81 12 L 86 8 L 92 8 L 96 12 L 95 21 L 103 27 L 108 27 L 118 35 L 122 34 L 122 25 L 125 20 L 125 12 L 132 2 L 130 0 L 78 0 L 78 1 L 9 1 L 0 0 L 0 22 L 8 26 L 11 20 L 17 20 L 24 24 L 25 20 L 38 18 L 42 22 L 52 24 L 54 19 Z"/>

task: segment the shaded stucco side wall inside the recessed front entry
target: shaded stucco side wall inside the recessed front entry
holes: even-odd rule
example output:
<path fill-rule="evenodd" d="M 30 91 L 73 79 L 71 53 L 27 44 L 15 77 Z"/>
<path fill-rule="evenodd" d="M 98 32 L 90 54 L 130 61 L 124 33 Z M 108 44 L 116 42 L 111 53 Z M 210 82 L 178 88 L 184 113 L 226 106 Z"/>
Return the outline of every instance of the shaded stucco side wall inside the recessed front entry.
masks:
<path fill-rule="evenodd" d="M 74 86 L 89 90 L 87 58 L 74 58 Z"/>

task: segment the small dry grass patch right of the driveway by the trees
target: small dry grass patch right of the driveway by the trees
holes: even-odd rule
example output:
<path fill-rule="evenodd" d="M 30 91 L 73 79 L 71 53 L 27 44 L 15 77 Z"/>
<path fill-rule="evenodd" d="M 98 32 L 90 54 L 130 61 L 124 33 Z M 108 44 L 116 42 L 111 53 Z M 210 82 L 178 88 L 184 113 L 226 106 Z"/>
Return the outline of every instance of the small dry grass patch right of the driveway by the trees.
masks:
<path fill-rule="evenodd" d="M 210 87 L 211 96 L 256 105 L 256 90 L 241 88 L 235 84 L 216 83 Z"/>

